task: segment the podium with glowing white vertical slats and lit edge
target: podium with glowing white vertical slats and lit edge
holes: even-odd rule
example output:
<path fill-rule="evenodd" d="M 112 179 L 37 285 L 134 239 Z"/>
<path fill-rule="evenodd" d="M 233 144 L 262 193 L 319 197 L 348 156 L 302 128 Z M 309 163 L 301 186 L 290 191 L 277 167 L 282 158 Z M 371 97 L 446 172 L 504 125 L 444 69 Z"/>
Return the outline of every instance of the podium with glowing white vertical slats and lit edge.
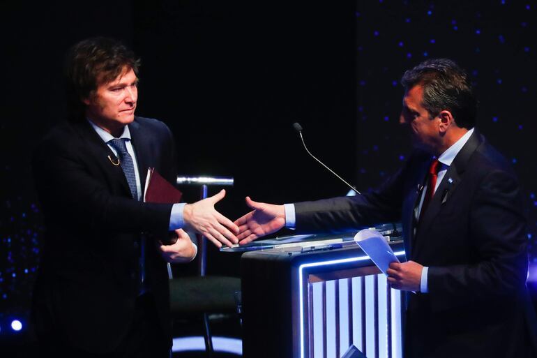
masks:
<path fill-rule="evenodd" d="M 244 357 L 340 358 L 353 344 L 369 358 L 402 357 L 404 294 L 353 237 L 258 241 L 241 256 Z M 402 241 L 389 244 L 404 261 Z"/>

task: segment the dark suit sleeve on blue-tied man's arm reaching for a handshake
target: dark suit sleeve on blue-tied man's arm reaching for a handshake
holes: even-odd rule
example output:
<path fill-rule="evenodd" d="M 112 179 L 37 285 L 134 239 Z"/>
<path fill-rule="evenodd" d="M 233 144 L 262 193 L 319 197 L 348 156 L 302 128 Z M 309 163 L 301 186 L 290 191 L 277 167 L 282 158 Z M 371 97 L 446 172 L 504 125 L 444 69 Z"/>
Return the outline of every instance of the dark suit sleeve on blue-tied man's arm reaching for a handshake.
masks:
<path fill-rule="evenodd" d="M 33 157 L 33 173 L 45 219 L 56 228 L 142 232 L 167 230 L 171 204 L 151 204 L 112 195 L 90 169 L 91 158 L 73 138 L 49 138 Z"/>

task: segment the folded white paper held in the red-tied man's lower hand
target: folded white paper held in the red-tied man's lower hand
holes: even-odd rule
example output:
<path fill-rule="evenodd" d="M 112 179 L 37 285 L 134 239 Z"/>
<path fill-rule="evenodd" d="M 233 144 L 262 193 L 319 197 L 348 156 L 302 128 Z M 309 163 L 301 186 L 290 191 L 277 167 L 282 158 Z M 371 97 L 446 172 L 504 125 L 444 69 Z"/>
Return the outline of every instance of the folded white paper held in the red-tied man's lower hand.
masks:
<path fill-rule="evenodd" d="M 388 245 L 386 238 L 376 230 L 360 230 L 354 235 L 354 241 L 384 274 L 386 274 L 391 262 L 400 262 Z"/>

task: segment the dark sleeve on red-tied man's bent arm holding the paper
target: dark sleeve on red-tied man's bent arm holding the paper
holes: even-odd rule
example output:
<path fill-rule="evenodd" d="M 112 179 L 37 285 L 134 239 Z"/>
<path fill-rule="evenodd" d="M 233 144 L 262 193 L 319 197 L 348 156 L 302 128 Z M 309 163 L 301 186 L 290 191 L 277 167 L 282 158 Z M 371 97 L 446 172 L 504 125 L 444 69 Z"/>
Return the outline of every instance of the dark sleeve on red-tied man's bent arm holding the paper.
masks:
<path fill-rule="evenodd" d="M 524 288 L 527 278 L 526 220 L 517 180 L 507 172 L 487 174 L 470 209 L 471 264 L 430 267 L 429 296 L 436 308 L 481 299 L 501 299 Z"/>

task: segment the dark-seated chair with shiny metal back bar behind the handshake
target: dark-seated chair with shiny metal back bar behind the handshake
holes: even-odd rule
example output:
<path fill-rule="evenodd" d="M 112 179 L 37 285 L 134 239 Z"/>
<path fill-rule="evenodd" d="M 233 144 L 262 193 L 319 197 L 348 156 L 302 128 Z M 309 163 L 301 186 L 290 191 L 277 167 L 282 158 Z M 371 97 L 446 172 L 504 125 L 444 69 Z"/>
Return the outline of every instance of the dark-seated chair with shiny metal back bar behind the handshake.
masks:
<path fill-rule="evenodd" d="M 207 197 L 211 186 L 232 186 L 233 178 L 178 177 L 179 185 L 201 186 L 201 198 Z M 204 341 L 207 357 L 213 356 L 209 326 L 210 313 L 239 313 L 241 306 L 241 279 L 229 276 L 206 275 L 207 240 L 197 234 L 197 276 L 173 278 L 168 264 L 169 295 L 173 319 L 200 314 L 203 317 Z"/>

